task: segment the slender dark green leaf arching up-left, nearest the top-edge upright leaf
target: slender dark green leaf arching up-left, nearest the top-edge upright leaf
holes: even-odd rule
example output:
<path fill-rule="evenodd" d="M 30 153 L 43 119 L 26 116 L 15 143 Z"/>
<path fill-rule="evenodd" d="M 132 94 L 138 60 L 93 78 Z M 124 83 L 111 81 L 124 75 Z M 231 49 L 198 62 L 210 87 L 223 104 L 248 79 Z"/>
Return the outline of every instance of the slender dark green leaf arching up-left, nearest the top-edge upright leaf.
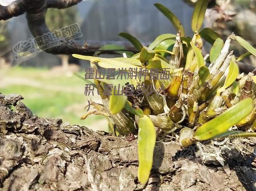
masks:
<path fill-rule="evenodd" d="M 180 20 L 168 8 L 166 8 L 160 3 L 156 3 L 154 4 L 154 6 L 156 6 L 156 8 L 160 10 L 160 12 L 164 14 L 164 16 L 166 16 L 168 20 L 170 20 L 170 22 L 172 22 L 172 25 L 174 26 L 174 28 L 177 31 L 179 30 L 181 32 L 181 36 L 185 36 L 185 31 L 183 26 L 180 23 Z"/>

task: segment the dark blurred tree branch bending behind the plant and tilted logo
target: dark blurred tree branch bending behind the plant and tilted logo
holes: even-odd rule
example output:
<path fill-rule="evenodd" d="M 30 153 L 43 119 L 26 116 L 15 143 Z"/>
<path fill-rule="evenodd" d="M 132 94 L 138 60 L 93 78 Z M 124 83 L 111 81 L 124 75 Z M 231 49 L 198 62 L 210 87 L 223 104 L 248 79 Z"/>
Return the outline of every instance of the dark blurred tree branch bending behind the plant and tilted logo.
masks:
<path fill-rule="evenodd" d="M 68 8 L 82 0 L 16 0 L 8 6 L 0 5 L 0 20 L 8 20 L 20 16 L 26 12 L 28 27 L 34 37 L 50 32 L 45 23 L 45 14 L 48 8 Z M 83 54 L 92 55 L 100 47 L 106 44 L 121 45 L 128 51 L 136 52 L 136 49 L 129 42 L 102 42 L 102 41 L 61 41 L 61 44 L 46 49 L 51 54 Z M 108 52 L 108 51 L 106 51 Z M 238 63 L 240 71 L 248 73 L 254 67 L 245 63 Z"/>

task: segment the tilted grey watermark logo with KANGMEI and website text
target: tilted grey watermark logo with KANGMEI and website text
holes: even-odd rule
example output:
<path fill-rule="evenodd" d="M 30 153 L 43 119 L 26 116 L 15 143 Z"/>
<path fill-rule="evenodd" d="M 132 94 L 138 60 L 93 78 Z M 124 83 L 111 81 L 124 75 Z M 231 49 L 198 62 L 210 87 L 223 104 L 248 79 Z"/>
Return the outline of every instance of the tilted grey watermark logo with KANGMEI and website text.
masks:
<path fill-rule="evenodd" d="M 82 36 L 79 24 L 75 23 L 59 30 L 55 30 L 54 32 L 44 33 L 35 38 L 20 41 L 12 48 L 14 59 L 20 60 L 29 57 L 52 47 L 58 47 L 62 42 L 72 41 Z"/>

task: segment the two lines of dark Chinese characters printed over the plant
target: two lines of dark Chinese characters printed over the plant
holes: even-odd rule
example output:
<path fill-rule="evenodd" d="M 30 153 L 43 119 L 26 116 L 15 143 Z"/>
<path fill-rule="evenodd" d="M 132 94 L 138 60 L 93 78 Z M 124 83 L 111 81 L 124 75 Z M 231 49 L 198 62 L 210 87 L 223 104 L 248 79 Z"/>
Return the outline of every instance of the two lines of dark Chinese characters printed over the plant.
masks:
<path fill-rule="evenodd" d="M 95 76 L 94 76 L 95 72 Z M 107 73 L 100 73 L 98 70 L 94 70 L 94 68 L 85 69 L 84 78 L 88 79 L 107 79 L 107 80 L 122 80 L 124 79 L 142 79 L 148 77 L 149 80 L 168 80 L 170 79 L 170 70 L 167 68 L 164 69 L 146 69 L 146 68 L 120 68 L 116 71 L 115 68 L 108 68 Z M 92 84 L 86 84 L 84 89 L 84 95 L 86 96 L 94 96 L 95 86 Z M 161 87 L 154 87 L 154 83 L 150 83 L 150 85 L 145 85 L 144 83 L 139 83 L 136 87 L 133 84 L 126 83 L 124 85 L 113 85 L 113 84 L 105 84 L 103 87 L 103 95 L 110 96 L 112 92 L 114 95 L 125 95 L 125 96 L 139 96 L 139 95 L 147 95 L 150 96 L 154 92 L 156 94 L 166 94 L 164 85 Z M 99 92 L 98 92 L 99 95 Z"/>

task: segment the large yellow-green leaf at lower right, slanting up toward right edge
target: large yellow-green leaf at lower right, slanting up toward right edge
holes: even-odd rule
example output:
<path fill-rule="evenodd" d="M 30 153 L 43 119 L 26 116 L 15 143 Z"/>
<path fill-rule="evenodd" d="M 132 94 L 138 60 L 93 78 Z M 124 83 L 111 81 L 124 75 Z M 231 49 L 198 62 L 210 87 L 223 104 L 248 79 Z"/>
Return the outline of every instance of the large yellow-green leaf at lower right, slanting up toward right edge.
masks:
<path fill-rule="evenodd" d="M 228 108 L 220 116 L 206 122 L 194 133 L 196 140 L 208 140 L 226 132 L 230 127 L 240 122 L 252 112 L 252 99 L 246 98 Z"/>

